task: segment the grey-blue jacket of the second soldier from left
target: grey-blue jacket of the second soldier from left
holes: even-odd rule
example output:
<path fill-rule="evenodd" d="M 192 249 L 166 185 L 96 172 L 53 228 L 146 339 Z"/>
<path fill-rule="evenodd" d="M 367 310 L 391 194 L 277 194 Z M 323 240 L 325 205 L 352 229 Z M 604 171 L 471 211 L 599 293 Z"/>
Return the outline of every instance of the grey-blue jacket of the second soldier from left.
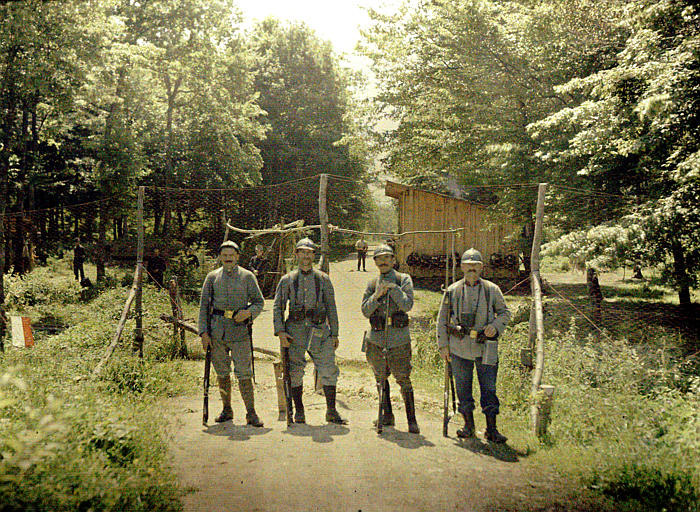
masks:
<path fill-rule="evenodd" d="M 291 310 L 294 306 L 303 306 L 306 310 L 313 309 L 317 305 L 316 282 L 320 280 L 319 293 L 321 303 L 326 309 L 326 324 L 329 328 L 329 335 L 338 337 L 338 310 L 335 306 L 335 292 L 328 274 L 320 270 L 312 269 L 308 274 L 300 270 L 293 270 L 282 276 L 277 291 L 275 292 L 275 303 L 272 307 L 272 316 L 275 328 L 275 336 L 281 332 L 289 332 L 284 321 L 284 312 L 289 305 Z M 298 288 L 295 288 L 295 283 Z"/>

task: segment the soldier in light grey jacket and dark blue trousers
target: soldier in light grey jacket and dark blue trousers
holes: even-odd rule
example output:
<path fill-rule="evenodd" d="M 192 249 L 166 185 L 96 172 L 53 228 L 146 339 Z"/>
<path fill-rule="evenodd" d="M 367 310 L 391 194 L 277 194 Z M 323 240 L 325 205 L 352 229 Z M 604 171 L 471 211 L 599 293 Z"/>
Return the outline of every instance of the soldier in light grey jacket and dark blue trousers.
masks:
<path fill-rule="evenodd" d="M 496 396 L 498 375 L 498 337 L 505 331 L 510 311 L 498 285 L 482 279 L 483 261 L 476 249 L 464 251 L 461 259 L 464 278 L 447 288 L 437 320 L 440 355 L 452 362 L 459 412 L 464 428 L 458 437 L 473 438 L 474 367 L 481 389 L 481 410 L 486 416 L 487 440 L 505 443 L 506 437 L 496 428 L 500 402 Z"/>

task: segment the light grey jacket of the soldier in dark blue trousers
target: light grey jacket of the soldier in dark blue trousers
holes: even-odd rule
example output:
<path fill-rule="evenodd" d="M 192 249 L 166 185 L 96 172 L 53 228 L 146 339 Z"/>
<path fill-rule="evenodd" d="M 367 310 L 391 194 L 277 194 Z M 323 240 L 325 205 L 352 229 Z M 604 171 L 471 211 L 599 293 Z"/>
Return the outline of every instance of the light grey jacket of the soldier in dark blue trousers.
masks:
<path fill-rule="evenodd" d="M 476 307 L 477 304 L 478 307 Z M 452 308 L 451 313 L 450 307 Z M 475 307 L 476 311 L 474 311 Z M 510 320 L 510 311 L 497 284 L 479 278 L 474 286 L 467 284 L 465 288 L 464 279 L 460 279 L 447 288 L 440 305 L 437 319 L 438 347 L 446 347 L 449 342 L 450 352 L 458 357 L 471 360 L 481 357 L 484 351 L 483 344 L 476 343 L 476 340 L 469 336 L 459 338 L 447 334 L 448 321 L 456 325 L 459 323 L 462 313 L 474 312 L 476 313 L 475 330 L 481 330 L 491 324 L 496 328 L 499 336 L 503 334 Z M 451 320 L 448 317 L 451 317 Z"/>

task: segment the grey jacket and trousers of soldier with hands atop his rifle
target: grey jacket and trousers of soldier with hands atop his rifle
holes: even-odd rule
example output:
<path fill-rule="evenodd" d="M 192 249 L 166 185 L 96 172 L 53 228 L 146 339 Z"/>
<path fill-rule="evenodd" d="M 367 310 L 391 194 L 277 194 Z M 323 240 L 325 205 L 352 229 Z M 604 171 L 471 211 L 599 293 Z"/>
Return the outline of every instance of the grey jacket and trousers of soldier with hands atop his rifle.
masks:
<path fill-rule="evenodd" d="M 374 292 L 377 289 L 378 279 L 372 279 L 367 283 L 362 297 L 362 314 L 367 318 L 377 314 L 390 319 L 394 313 L 408 313 L 413 307 L 411 276 L 391 269 L 381 275 L 381 280 L 394 283 L 397 287 L 390 288 L 386 295 L 377 300 Z M 370 328 L 365 333 L 367 362 L 372 367 L 378 382 L 393 374 L 402 390 L 410 390 L 412 389 L 410 329 L 408 325 L 395 327 L 391 320 L 386 322 L 385 327 L 383 331 Z M 386 360 L 384 349 L 386 349 Z"/>

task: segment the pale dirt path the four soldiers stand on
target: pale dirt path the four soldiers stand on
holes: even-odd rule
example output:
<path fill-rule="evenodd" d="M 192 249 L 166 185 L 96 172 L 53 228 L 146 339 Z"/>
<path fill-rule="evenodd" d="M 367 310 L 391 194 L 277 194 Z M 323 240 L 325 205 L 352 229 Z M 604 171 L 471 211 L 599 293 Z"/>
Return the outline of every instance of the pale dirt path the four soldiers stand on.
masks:
<path fill-rule="evenodd" d="M 331 277 L 340 315 L 338 355 L 341 366 L 338 401 L 347 426 L 324 421 L 325 402 L 305 381 L 307 425 L 278 421 L 272 363 L 256 361 L 257 410 L 265 427 L 244 425 L 245 411 L 234 390 L 234 421 L 216 424 L 218 393 L 211 389 L 210 425 L 201 424 L 199 394 L 164 404 L 170 418 L 173 466 L 191 490 L 185 510 L 245 511 L 486 511 L 588 510 L 571 502 L 570 487 L 552 475 L 535 476 L 527 454 L 507 445 L 442 436 L 437 397 L 418 393 L 422 434 L 406 431 L 406 417 L 395 383 L 392 398 L 397 419 L 382 436 L 372 428 L 376 392 L 360 352 L 366 321 L 359 313 L 365 284 L 374 273 L 355 271 L 355 261 L 333 265 Z M 372 269 L 374 270 L 374 269 Z M 271 303 L 256 321 L 255 345 L 278 349 L 272 336 Z M 201 364 L 201 363 L 199 363 Z M 478 422 L 477 425 L 480 423 Z M 568 490 L 567 490 L 568 489 Z"/>

